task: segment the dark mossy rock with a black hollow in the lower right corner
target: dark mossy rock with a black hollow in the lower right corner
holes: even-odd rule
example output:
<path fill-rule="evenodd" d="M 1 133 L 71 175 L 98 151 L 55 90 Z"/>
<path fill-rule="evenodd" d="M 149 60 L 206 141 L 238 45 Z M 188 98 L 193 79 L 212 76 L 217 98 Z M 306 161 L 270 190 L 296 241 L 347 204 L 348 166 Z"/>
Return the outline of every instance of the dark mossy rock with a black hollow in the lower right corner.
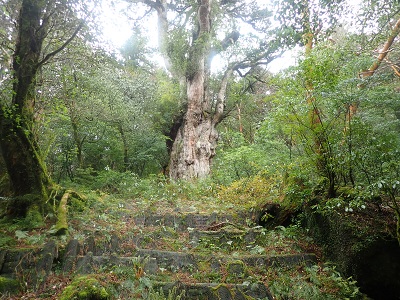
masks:
<path fill-rule="evenodd" d="M 390 234 L 393 215 L 373 208 L 306 215 L 307 227 L 325 258 L 357 280 L 362 292 L 373 299 L 399 299 L 400 248 Z"/>

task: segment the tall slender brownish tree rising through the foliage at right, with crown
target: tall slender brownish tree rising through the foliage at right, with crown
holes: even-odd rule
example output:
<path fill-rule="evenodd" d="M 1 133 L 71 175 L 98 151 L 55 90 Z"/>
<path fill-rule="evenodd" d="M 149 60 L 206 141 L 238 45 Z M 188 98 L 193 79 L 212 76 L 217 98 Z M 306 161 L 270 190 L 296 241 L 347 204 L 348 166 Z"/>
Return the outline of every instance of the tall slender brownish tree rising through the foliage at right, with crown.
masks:
<path fill-rule="evenodd" d="M 309 107 L 309 128 L 314 134 L 313 151 L 316 154 L 317 170 L 323 173 L 329 181 L 328 194 L 335 195 L 335 171 L 329 163 L 331 145 L 326 139 L 322 120 L 322 112 L 318 107 L 314 91 L 314 71 L 316 66 L 312 60 L 314 46 L 319 40 L 327 40 L 336 29 L 340 12 L 344 8 L 344 0 L 290 0 L 275 1 L 281 31 L 289 42 L 288 46 L 302 45 L 304 49 L 304 89 L 305 99 Z"/>

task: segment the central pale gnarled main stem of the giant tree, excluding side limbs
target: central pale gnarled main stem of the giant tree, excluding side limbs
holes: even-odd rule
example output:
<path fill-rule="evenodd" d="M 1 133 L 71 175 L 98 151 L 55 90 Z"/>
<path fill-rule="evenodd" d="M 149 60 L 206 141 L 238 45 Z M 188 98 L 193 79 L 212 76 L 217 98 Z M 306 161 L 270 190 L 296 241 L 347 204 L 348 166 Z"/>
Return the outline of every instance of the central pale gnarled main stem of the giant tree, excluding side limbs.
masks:
<path fill-rule="evenodd" d="M 172 179 L 204 178 L 210 174 L 218 134 L 208 95 L 211 0 L 199 0 L 198 32 L 186 70 L 187 110 L 171 151 Z"/>

